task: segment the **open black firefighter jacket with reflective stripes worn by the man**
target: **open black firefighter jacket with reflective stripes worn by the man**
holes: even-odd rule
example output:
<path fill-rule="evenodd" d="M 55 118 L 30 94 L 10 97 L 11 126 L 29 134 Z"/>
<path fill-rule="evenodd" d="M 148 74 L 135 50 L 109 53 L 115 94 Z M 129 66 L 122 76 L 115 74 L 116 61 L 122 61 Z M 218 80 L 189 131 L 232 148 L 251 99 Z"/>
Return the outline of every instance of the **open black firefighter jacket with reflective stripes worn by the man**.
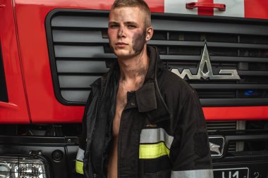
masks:
<path fill-rule="evenodd" d="M 118 134 L 118 177 L 212 178 L 204 115 L 196 92 L 147 47 L 143 86 L 129 91 Z M 76 172 L 106 177 L 116 108 L 118 64 L 95 81 L 85 107 Z"/>

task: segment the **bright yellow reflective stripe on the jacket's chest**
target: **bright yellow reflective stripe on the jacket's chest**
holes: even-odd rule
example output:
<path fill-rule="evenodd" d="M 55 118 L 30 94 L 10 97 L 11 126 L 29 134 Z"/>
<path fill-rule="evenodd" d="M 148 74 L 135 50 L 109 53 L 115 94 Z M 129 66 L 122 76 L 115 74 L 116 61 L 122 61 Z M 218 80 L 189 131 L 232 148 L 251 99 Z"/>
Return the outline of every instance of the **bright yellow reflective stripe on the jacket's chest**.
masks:
<path fill-rule="evenodd" d="M 162 155 L 169 155 L 169 148 L 164 142 L 158 144 L 140 144 L 140 159 L 154 159 Z"/>

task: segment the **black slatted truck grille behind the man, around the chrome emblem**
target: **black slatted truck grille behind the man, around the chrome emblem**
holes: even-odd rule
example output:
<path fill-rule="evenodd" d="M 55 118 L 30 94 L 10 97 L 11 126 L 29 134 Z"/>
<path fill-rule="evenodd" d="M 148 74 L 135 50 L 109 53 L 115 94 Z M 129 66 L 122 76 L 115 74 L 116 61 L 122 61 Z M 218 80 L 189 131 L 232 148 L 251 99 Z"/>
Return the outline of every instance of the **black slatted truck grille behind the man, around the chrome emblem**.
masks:
<path fill-rule="evenodd" d="M 56 10 L 46 20 L 56 98 L 83 105 L 90 84 L 116 58 L 109 48 L 106 11 Z M 268 104 L 268 26 L 264 21 L 216 20 L 153 14 L 154 37 L 167 69 L 197 74 L 205 41 L 214 75 L 237 70 L 240 80 L 185 80 L 197 90 L 202 106 Z M 207 70 L 208 67 L 204 68 Z"/>

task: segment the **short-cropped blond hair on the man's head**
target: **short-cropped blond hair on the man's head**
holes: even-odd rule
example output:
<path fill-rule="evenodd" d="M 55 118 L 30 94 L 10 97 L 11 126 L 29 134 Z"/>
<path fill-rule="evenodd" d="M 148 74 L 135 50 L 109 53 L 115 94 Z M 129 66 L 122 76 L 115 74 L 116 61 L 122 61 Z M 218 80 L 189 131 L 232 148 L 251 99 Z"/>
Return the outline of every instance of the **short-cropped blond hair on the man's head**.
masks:
<path fill-rule="evenodd" d="M 142 10 L 145 15 L 145 27 L 151 26 L 151 11 L 147 3 L 143 0 L 116 0 L 113 6 L 111 6 L 111 11 L 115 8 L 121 7 L 138 7 Z"/>

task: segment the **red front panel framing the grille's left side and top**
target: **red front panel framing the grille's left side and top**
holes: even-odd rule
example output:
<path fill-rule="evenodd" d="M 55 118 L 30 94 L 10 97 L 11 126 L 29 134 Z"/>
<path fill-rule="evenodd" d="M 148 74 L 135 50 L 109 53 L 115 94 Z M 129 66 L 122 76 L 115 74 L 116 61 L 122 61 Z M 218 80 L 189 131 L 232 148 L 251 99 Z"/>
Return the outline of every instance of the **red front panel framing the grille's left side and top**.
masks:
<path fill-rule="evenodd" d="M 162 11 L 162 1 L 151 1 Z M 113 1 L 16 1 L 18 36 L 32 122 L 80 122 L 84 107 L 63 106 L 54 96 L 44 20 L 54 7 L 107 10 Z M 153 6 L 154 5 L 154 6 Z"/>

